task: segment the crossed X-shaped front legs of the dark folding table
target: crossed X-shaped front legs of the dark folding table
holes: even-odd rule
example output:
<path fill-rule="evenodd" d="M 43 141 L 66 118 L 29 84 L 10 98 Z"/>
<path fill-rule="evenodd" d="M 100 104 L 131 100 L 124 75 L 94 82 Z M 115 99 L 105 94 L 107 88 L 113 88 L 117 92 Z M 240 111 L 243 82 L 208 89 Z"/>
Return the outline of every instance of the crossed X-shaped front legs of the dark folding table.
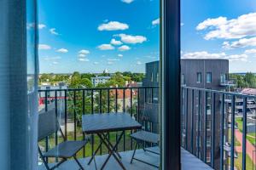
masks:
<path fill-rule="evenodd" d="M 106 139 L 106 136 L 104 136 L 104 135 L 101 134 L 101 133 L 97 133 L 97 135 L 99 136 L 100 139 L 102 139 L 103 144 L 106 145 L 106 147 L 108 148 L 108 151 L 110 152 L 110 153 L 108 154 L 108 158 L 106 159 L 106 161 L 104 161 L 104 163 L 103 163 L 101 169 L 103 169 L 103 168 L 106 166 L 106 164 L 107 164 L 107 162 L 108 162 L 110 156 L 113 155 L 113 158 L 119 163 L 119 166 L 122 167 L 122 169 L 125 170 L 124 164 L 122 163 L 122 161 L 119 160 L 119 157 L 116 156 L 116 152 L 115 152 L 115 147 L 116 147 L 117 144 L 119 144 L 119 141 L 120 141 L 121 138 L 118 139 L 117 143 L 115 144 L 115 147 L 112 147 L 113 145 L 112 145 L 112 144 L 111 144 L 111 145 L 109 144 L 110 142 L 108 141 L 108 138 Z M 121 136 L 122 136 L 122 135 L 120 135 L 120 137 L 121 137 Z M 108 142 L 106 142 L 106 140 L 107 140 Z"/>

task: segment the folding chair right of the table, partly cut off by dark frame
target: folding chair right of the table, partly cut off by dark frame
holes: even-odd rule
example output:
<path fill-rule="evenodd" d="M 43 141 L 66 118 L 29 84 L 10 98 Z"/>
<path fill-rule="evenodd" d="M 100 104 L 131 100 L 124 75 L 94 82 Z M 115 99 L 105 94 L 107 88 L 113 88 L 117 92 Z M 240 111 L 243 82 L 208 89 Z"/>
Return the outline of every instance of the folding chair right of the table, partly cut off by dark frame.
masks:
<path fill-rule="evenodd" d="M 145 103 L 144 107 L 143 107 L 143 116 L 142 116 L 142 123 L 144 123 L 145 125 L 147 125 L 148 122 L 151 122 L 151 125 L 159 125 L 159 105 L 158 104 L 154 104 L 154 103 Z M 154 126 L 155 127 L 155 126 Z M 152 132 L 148 132 L 146 129 L 146 127 L 143 127 L 143 130 L 139 130 L 136 133 L 132 133 L 131 134 L 131 139 L 134 139 L 136 141 L 136 145 L 131 157 L 131 163 L 133 160 L 137 160 L 137 161 L 141 161 L 143 163 L 146 163 L 150 166 L 153 167 L 159 167 L 156 166 L 150 162 L 147 161 L 143 161 L 142 159 L 139 159 L 137 157 L 135 157 L 136 154 L 136 150 L 137 148 L 140 147 L 140 144 L 143 144 L 143 150 L 144 151 L 148 151 L 157 155 L 160 155 L 159 152 L 153 151 L 153 150 L 148 150 L 147 148 L 144 148 L 145 143 L 150 143 L 150 144 L 154 144 L 154 145 L 158 145 L 159 141 L 160 141 L 160 135 L 159 133 L 152 133 Z M 152 127 L 151 127 L 152 128 Z M 158 128 L 155 128 L 155 131 Z"/>

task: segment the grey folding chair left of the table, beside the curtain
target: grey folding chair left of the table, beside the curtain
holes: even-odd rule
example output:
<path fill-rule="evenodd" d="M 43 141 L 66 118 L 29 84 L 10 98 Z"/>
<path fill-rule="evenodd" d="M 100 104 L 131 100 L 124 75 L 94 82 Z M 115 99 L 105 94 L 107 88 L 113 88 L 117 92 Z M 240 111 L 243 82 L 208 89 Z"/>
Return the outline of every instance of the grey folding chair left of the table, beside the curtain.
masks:
<path fill-rule="evenodd" d="M 78 153 L 78 151 L 81 150 L 85 144 L 87 144 L 89 139 L 86 138 L 83 141 L 67 141 L 57 121 L 55 110 L 47 111 L 45 113 L 39 114 L 38 142 L 42 139 L 45 139 L 46 137 L 48 137 L 53 133 L 57 133 L 58 130 L 60 130 L 61 136 L 64 139 L 64 142 L 57 144 L 55 148 L 49 151 L 46 151 L 44 153 L 40 149 L 38 144 L 39 156 L 44 162 L 46 169 L 47 170 L 55 169 L 56 167 L 59 167 L 64 161 L 67 161 L 68 158 L 73 157 L 74 160 L 79 165 L 80 169 L 84 170 L 84 167 L 82 167 L 82 165 L 80 164 L 79 160 L 76 157 L 76 153 Z M 49 167 L 49 164 L 45 160 L 45 158 L 48 158 L 48 157 L 61 158 L 61 161 L 57 162 L 53 167 Z"/>

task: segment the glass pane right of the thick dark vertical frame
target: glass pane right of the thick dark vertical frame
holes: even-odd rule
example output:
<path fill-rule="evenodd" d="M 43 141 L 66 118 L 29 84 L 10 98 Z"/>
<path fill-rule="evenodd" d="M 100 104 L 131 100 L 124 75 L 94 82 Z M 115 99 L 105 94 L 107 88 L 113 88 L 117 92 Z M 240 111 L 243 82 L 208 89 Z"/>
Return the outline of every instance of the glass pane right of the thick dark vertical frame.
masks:
<path fill-rule="evenodd" d="M 181 1 L 182 144 L 214 169 L 256 166 L 256 60 L 244 42 L 255 37 L 255 7 L 251 0 Z"/>

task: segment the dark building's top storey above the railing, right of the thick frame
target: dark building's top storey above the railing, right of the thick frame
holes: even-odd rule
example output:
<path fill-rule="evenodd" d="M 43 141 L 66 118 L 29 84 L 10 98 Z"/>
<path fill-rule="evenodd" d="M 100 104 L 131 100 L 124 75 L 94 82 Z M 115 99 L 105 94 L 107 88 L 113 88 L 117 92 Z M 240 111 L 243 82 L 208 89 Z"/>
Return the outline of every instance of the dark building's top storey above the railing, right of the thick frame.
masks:
<path fill-rule="evenodd" d="M 228 59 L 181 59 L 181 83 L 214 90 L 235 85 L 229 81 Z"/>

